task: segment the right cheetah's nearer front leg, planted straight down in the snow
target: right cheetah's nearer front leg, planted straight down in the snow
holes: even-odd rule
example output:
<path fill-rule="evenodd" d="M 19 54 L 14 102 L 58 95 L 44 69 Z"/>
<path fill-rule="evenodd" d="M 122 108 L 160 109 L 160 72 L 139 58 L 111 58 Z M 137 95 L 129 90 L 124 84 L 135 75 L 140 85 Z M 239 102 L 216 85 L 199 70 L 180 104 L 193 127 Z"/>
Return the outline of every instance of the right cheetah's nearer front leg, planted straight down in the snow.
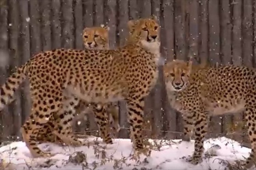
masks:
<path fill-rule="evenodd" d="M 188 162 L 196 165 L 202 161 L 202 154 L 204 151 L 203 141 L 208 130 L 209 116 L 208 112 L 203 111 L 203 109 L 198 109 L 195 111 L 195 145 L 193 156 L 187 159 Z"/>

